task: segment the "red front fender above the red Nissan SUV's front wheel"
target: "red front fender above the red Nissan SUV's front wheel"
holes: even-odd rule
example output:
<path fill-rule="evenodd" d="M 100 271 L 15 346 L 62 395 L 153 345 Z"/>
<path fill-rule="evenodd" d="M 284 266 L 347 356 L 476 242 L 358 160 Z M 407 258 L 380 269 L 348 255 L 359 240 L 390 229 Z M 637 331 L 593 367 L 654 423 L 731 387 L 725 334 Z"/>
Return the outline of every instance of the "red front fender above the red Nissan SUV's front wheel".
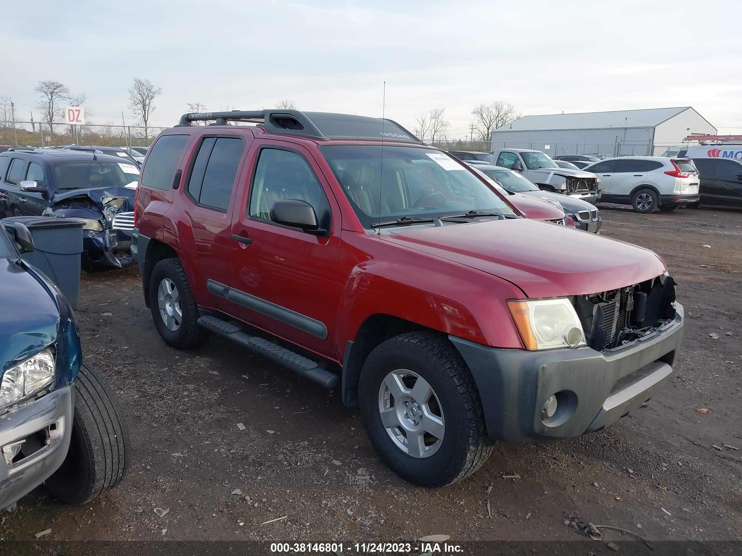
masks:
<path fill-rule="evenodd" d="M 478 273 L 477 280 L 469 279 Z M 356 265 L 345 284 L 335 328 L 335 352 L 357 340 L 368 317 L 387 314 L 484 345 L 522 348 L 507 299 L 522 291 L 490 274 L 441 265 L 424 272 L 414 262 L 371 259 Z"/>

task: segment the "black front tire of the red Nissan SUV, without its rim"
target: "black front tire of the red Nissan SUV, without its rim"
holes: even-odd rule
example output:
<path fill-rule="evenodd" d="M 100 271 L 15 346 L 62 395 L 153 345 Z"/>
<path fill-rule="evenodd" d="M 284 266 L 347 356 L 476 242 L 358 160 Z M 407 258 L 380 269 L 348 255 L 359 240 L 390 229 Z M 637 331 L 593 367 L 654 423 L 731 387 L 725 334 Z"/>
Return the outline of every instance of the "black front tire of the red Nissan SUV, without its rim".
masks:
<path fill-rule="evenodd" d="M 430 457 L 416 458 L 395 446 L 381 423 L 379 388 L 388 373 L 408 369 L 430 383 L 444 414 L 444 438 Z M 456 348 L 442 334 L 400 334 L 378 345 L 361 370 L 361 417 L 372 445 L 390 468 L 419 486 L 456 483 L 485 463 L 493 450 L 482 401 L 474 379 Z"/>

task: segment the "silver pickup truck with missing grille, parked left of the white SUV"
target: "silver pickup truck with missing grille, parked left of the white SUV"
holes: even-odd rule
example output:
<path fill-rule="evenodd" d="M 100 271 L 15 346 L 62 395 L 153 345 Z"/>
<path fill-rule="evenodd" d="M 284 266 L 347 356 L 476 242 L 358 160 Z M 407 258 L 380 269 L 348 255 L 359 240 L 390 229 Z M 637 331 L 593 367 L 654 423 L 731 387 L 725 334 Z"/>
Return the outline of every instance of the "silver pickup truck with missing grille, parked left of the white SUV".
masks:
<path fill-rule="evenodd" d="M 574 196 L 583 201 L 600 201 L 600 177 L 592 172 L 559 168 L 540 150 L 503 148 L 494 150 L 492 164 L 519 172 L 543 191 Z"/>

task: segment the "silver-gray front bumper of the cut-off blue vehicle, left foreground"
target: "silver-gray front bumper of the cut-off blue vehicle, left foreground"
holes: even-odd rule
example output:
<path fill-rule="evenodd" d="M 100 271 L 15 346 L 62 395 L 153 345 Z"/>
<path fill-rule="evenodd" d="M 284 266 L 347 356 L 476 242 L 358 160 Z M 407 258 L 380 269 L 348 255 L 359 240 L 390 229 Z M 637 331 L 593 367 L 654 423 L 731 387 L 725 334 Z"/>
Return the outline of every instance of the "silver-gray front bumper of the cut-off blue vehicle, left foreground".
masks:
<path fill-rule="evenodd" d="M 49 443 L 12 466 L 0 456 L 0 509 L 25 496 L 59 469 L 72 436 L 73 391 L 68 385 L 0 416 L 0 449 L 49 426 Z"/>

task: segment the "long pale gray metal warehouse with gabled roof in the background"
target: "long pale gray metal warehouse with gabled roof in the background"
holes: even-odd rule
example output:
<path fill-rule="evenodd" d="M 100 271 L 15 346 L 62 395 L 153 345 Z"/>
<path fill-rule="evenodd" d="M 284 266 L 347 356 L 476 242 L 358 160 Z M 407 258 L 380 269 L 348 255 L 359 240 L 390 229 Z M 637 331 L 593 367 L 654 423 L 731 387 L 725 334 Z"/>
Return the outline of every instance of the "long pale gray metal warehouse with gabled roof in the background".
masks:
<path fill-rule="evenodd" d="M 660 156 L 692 134 L 717 133 L 692 107 L 523 116 L 492 132 L 492 150 L 532 148 L 557 156 Z"/>

